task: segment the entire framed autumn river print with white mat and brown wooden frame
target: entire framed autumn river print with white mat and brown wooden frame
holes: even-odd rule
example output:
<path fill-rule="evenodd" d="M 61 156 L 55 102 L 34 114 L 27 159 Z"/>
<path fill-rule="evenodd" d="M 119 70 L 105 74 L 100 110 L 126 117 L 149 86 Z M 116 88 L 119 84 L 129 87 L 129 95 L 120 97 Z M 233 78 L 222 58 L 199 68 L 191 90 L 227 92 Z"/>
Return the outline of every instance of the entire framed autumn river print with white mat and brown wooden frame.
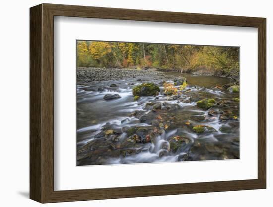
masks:
<path fill-rule="evenodd" d="M 30 198 L 266 188 L 266 19 L 30 8 Z"/>

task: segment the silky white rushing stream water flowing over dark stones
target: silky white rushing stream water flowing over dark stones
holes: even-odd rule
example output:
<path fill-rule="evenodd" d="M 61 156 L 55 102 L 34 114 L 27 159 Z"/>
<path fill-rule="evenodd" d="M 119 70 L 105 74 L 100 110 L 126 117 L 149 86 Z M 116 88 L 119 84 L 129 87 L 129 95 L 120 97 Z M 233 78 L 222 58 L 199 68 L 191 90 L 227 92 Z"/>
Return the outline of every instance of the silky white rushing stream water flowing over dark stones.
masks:
<path fill-rule="evenodd" d="M 77 85 L 77 165 L 238 159 L 239 103 L 234 98 L 239 93 L 215 87 L 229 79 L 183 74 L 185 93 L 164 95 L 162 81 L 177 76 L 181 74 L 166 72 Z M 146 82 L 160 86 L 160 93 L 134 101 L 132 88 Z M 121 98 L 104 100 L 106 94 Z M 205 98 L 215 99 L 217 107 L 197 107 Z M 156 103 L 161 109 L 153 109 Z M 197 125 L 213 130 L 196 133 Z"/>

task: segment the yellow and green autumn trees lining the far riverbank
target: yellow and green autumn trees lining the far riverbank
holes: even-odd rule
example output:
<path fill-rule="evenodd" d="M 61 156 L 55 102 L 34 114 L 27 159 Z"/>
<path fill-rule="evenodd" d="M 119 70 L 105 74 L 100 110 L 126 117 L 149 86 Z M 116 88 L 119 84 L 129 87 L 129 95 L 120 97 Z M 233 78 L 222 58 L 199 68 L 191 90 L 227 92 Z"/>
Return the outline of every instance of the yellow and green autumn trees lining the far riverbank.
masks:
<path fill-rule="evenodd" d="M 239 75 L 239 48 L 77 41 L 77 67 L 158 68 Z"/>

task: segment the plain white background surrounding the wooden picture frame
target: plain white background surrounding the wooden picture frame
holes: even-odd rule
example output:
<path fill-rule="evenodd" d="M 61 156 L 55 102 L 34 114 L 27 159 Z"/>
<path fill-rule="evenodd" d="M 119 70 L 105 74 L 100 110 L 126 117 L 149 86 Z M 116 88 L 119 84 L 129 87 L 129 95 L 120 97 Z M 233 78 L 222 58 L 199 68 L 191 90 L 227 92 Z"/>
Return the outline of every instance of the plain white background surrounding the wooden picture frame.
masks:
<path fill-rule="evenodd" d="M 271 119 L 269 105 L 273 72 L 270 57 L 273 39 L 272 5 L 269 0 L 24 0 L 3 1 L 0 7 L 0 204 L 1 206 L 37 207 L 29 200 L 29 7 L 40 3 L 77 4 L 146 10 L 256 16 L 267 18 L 267 153 L 268 182 L 266 190 L 218 192 L 175 196 L 157 196 L 101 201 L 46 204 L 51 207 L 105 206 L 209 206 L 209 207 L 271 207 L 273 179 L 271 179 L 273 142 L 270 140 Z M 271 99 L 271 100 L 270 100 Z M 251 114 L 251 112 L 250 112 Z M 271 133 L 270 133 L 271 132 Z M 271 162 L 271 165 L 270 165 Z"/>

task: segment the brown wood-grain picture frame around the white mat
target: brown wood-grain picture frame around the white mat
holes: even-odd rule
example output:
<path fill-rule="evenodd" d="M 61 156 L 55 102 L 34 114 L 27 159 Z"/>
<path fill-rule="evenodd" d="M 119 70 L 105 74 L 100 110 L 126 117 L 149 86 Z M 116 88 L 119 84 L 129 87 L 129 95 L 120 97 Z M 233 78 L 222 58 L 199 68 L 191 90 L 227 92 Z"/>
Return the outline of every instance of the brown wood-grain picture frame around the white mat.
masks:
<path fill-rule="evenodd" d="M 258 28 L 258 179 L 54 191 L 54 16 Z M 65 202 L 266 188 L 266 19 L 40 4 L 30 8 L 30 198 Z"/>

